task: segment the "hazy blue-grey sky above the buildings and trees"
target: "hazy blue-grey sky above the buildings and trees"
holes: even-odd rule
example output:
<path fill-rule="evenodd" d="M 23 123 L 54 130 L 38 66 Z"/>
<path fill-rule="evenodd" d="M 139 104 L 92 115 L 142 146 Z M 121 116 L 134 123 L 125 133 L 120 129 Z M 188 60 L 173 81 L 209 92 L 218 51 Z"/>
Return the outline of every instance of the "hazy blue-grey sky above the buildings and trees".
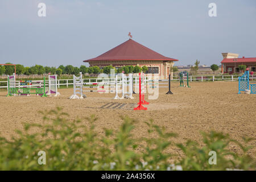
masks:
<path fill-rule="evenodd" d="M 45 3 L 46 16 L 38 16 Z M 209 3 L 217 16 L 210 17 Z M 220 64 L 222 52 L 256 57 L 255 0 L 1 0 L 0 63 L 87 65 L 129 39 L 179 59 Z"/>

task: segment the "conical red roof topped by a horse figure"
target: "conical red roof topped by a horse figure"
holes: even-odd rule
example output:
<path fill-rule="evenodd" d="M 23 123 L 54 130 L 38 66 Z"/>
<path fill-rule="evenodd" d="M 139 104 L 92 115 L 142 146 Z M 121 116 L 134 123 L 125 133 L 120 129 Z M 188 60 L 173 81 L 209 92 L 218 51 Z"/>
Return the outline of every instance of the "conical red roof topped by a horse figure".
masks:
<path fill-rule="evenodd" d="M 110 49 L 108 52 L 103 53 L 102 55 L 95 57 L 93 59 L 84 60 L 88 61 L 117 61 L 117 60 L 160 60 L 160 61 L 178 61 L 171 57 L 166 57 L 160 55 L 159 53 L 152 51 L 151 49 L 142 46 L 138 42 L 135 42 L 133 39 L 129 39 L 126 42 L 120 44 L 119 46 Z"/>

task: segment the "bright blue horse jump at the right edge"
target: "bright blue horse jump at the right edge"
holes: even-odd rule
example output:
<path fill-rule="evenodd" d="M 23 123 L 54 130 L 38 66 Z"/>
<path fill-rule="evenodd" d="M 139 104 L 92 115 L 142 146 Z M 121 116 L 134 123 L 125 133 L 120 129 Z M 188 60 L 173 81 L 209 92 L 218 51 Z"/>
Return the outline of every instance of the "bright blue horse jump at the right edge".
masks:
<path fill-rule="evenodd" d="M 256 94 L 256 84 L 250 84 L 249 70 L 247 70 L 242 76 L 238 77 L 238 94 L 249 89 L 251 89 L 251 94 Z"/>

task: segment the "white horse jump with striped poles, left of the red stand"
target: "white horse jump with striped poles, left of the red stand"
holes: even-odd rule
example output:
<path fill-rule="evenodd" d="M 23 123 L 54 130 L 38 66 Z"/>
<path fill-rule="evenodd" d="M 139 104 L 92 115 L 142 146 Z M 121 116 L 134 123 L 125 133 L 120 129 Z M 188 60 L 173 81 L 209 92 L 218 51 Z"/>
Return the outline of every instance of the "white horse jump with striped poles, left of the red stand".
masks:
<path fill-rule="evenodd" d="M 86 98 L 85 94 L 82 94 L 82 92 L 106 92 L 106 90 L 82 90 L 82 88 L 96 88 L 96 86 L 84 86 L 85 85 L 99 85 L 99 84 L 110 84 L 110 83 L 114 83 L 115 84 L 115 97 L 114 99 L 123 99 L 123 98 L 129 98 L 129 99 L 133 99 L 132 93 L 132 75 L 129 74 L 129 92 L 125 92 L 125 86 L 127 86 L 127 78 L 125 77 L 125 75 L 123 73 L 121 73 L 122 78 L 120 81 L 118 81 L 118 76 L 115 76 L 115 81 L 109 81 L 109 82 L 93 82 L 93 83 L 86 83 L 83 82 L 82 79 L 82 73 L 80 72 L 80 76 L 76 77 L 75 75 L 73 75 L 73 95 L 69 98 L 73 99 L 73 98 Z M 118 97 L 118 93 L 120 92 L 120 90 L 118 90 L 118 85 L 122 87 L 121 93 L 122 93 L 122 97 Z M 97 86 L 97 88 L 113 88 L 113 86 Z M 110 93 L 113 93 L 112 90 L 110 90 Z M 77 96 L 77 94 L 79 94 L 80 96 Z M 125 95 L 127 94 L 127 95 Z"/>

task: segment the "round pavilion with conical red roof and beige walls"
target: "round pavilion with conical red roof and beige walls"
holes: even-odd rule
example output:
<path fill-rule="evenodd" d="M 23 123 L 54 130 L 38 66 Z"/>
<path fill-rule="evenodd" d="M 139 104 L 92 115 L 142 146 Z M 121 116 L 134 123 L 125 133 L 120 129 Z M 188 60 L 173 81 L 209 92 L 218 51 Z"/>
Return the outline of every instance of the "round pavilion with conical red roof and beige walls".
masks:
<path fill-rule="evenodd" d="M 159 73 L 159 76 L 167 78 L 169 73 L 172 72 L 170 67 L 174 66 L 174 61 L 177 59 L 160 55 L 133 39 L 120 44 L 108 52 L 95 57 L 93 59 L 84 60 L 90 64 L 90 67 L 98 66 L 100 68 L 107 65 L 112 65 L 115 68 L 120 68 L 126 65 L 138 65 L 148 67 L 148 73 Z"/>

